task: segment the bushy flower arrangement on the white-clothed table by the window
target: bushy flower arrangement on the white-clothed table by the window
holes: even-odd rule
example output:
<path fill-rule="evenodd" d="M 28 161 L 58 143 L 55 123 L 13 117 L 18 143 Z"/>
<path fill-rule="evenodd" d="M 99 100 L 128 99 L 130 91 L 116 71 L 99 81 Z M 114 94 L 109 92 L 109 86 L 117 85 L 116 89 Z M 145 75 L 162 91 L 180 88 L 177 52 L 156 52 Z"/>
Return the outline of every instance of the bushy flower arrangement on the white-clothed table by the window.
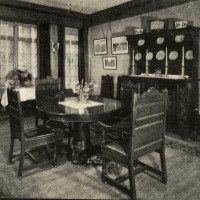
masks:
<path fill-rule="evenodd" d="M 8 74 L 5 77 L 6 80 L 12 80 L 13 85 L 18 85 L 20 83 L 21 86 L 24 86 L 26 82 L 30 84 L 30 81 L 32 80 L 32 74 L 28 72 L 28 70 L 20 70 L 20 69 L 14 69 L 8 72 Z"/>

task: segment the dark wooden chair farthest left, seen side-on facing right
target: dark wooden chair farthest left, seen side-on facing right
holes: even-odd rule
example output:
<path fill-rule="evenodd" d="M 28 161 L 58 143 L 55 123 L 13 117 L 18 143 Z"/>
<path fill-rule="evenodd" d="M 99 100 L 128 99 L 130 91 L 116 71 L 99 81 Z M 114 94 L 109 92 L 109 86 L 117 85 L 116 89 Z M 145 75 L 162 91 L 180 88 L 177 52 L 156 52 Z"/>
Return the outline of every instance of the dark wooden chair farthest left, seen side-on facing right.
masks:
<path fill-rule="evenodd" d="M 10 120 L 10 150 L 8 164 L 12 163 L 13 150 L 15 140 L 19 140 L 21 146 L 18 177 L 22 178 L 24 158 L 25 155 L 28 155 L 34 162 L 37 162 L 32 150 L 37 148 L 44 147 L 47 144 L 54 145 L 54 156 L 53 164 L 57 164 L 57 135 L 51 129 L 46 128 L 44 125 L 24 129 L 24 120 L 22 117 L 22 105 L 20 99 L 19 91 L 16 91 L 14 88 L 7 89 L 8 94 L 8 109 L 9 109 L 9 120 Z"/>

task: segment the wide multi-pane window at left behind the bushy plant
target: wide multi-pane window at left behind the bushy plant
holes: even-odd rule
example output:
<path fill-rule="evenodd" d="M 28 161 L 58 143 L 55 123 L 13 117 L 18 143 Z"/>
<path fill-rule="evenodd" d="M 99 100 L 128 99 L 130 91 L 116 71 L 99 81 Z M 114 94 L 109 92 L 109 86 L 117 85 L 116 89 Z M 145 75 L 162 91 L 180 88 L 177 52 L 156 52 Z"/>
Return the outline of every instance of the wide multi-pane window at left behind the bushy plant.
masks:
<path fill-rule="evenodd" d="M 0 20 L 0 97 L 13 69 L 37 76 L 37 26 Z"/>

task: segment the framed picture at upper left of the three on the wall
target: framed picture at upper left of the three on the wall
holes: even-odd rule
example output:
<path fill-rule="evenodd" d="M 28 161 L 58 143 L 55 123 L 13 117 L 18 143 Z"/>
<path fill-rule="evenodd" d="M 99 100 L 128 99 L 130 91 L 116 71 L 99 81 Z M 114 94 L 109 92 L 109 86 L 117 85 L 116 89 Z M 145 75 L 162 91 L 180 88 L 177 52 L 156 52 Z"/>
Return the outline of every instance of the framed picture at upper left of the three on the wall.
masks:
<path fill-rule="evenodd" d="M 94 55 L 106 55 L 107 54 L 107 39 L 94 40 Z"/>

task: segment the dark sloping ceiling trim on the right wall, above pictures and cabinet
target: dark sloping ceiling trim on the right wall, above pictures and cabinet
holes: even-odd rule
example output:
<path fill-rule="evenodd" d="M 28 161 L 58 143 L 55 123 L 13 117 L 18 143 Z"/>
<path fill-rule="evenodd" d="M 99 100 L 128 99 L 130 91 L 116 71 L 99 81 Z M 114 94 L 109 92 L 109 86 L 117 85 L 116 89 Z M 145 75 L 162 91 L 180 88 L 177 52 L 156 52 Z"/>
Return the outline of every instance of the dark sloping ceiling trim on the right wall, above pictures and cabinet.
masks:
<path fill-rule="evenodd" d="M 166 9 L 169 7 L 193 2 L 197 0 L 137 0 L 127 2 L 100 12 L 91 14 L 88 20 L 88 27 L 117 21 L 144 13 Z"/>

